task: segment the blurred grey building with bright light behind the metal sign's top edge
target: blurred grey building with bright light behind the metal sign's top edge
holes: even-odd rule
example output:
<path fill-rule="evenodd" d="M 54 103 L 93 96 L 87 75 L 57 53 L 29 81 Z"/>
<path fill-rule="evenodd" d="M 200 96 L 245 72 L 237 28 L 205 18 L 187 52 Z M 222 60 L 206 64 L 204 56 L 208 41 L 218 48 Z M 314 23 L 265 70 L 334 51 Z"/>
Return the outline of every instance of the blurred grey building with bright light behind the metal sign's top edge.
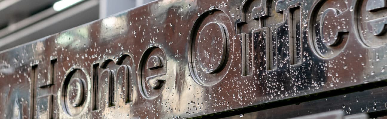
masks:
<path fill-rule="evenodd" d="M 0 52 L 153 0 L 0 0 Z"/>

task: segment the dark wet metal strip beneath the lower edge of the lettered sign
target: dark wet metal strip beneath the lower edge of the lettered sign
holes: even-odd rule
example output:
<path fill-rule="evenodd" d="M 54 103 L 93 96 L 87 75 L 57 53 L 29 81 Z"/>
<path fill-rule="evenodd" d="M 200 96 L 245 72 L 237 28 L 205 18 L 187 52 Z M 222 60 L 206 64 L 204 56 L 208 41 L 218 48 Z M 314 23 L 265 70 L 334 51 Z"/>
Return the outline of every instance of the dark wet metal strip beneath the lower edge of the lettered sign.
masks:
<path fill-rule="evenodd" d="M 346 115 L 367 113 L 372 118 L 384 119 L 385 117 L 380 116 L 386 115 L 385 110 L 387 107 L 385 106 L 387 99 L 384 98 L 386 94 L 385 87 L 379 87 L 282 107 L 272 108 L 269 107 L 270 105 L 257 106 L 255 108 L 267 107 L 271 109 L 250 113 L 247 113 L 248 111 L 234 111 L 234 115 L 236 116 L 222 119 L 284 119 L 324 113 L 332 110 L 339 110 Z"/>

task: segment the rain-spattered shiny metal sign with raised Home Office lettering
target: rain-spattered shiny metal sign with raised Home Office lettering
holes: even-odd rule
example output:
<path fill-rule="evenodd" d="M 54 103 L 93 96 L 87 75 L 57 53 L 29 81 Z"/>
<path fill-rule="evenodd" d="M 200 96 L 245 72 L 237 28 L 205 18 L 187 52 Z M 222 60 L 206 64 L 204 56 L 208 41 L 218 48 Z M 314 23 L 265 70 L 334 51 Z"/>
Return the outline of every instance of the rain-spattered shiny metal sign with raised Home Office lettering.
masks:
<path fill-rule="evenodd" d="M 155 1 L 1 52 L 0 114 L 384 116 L 387 9 L 375 2 Z"/>

